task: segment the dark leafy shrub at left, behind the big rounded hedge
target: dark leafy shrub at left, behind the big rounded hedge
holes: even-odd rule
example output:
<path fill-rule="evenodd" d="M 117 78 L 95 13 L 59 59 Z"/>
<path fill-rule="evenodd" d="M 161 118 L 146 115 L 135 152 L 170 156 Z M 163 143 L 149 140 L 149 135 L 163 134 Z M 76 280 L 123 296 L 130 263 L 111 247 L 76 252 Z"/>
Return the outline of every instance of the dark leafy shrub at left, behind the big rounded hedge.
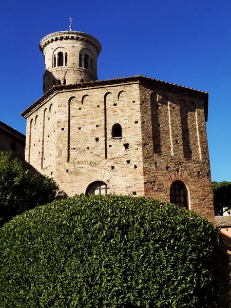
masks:
<path fill-rule="evenodd" d="M 54 200 L 59 186 L 37 171 L 25 170 L 10 152 L 0 152 L 0 226 L 12 217 Z"/>

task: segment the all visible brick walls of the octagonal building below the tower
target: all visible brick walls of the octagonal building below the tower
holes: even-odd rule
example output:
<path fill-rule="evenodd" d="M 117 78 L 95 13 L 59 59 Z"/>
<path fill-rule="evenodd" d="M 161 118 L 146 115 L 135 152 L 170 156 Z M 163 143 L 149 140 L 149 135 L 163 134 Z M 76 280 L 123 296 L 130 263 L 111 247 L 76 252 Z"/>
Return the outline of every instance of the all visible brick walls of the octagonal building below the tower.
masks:
<path fill-rule="evenodd" d="M 26 160 L 70 196 L 102 181 L 115 194 L 169 202 L 181 181 L 188 208 L 214 221 L 207 104 L 206 92 L 140 75 L 54 85 L 22 113 Z M 113 138 L 117 123 L 122 137 Z"/>

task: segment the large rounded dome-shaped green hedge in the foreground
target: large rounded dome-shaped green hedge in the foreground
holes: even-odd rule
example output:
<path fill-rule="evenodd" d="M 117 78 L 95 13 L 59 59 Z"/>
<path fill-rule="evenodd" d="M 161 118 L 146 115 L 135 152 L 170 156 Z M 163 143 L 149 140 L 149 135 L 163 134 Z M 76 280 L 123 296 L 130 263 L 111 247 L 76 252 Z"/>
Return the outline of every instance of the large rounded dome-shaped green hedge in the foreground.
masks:
<path fill-rule="evenodd" d="M 1 307 L 229 307 L 219 229 L 174 204 L 79 196 L 0 233 Z"/>

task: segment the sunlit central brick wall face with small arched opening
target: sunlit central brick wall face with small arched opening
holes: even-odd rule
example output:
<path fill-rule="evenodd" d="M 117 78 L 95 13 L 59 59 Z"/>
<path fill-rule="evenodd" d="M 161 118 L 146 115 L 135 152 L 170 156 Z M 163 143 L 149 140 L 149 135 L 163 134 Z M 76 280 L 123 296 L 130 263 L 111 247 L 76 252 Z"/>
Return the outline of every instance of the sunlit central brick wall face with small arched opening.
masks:
<path fill-rule="evenodd" d="M 57 95 L 56 179 L 68 194 L 106 182 L 115 194 L 144 194 L 139 85 L 95 87 Z M 112 138 L 113 124 L 122 138 Z M 128 148 L 125 148 L 125 144 Z"/>

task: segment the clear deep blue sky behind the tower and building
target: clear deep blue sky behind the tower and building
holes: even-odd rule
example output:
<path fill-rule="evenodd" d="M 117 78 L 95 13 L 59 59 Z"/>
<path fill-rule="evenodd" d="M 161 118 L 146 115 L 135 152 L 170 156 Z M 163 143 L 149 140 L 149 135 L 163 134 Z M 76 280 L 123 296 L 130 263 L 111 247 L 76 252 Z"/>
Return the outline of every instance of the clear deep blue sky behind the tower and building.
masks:
<path fill-rule="evenodd" d="M 43 94 L 40 40 L 73 30 L 102 44 L 98 78 L 143 74 L 209 92 L 213 181 L 231 181 L 231 2 L 228 0 L 4 1 L 0 10 L 0 120 L 25 133 L 20 113 Z"/>

